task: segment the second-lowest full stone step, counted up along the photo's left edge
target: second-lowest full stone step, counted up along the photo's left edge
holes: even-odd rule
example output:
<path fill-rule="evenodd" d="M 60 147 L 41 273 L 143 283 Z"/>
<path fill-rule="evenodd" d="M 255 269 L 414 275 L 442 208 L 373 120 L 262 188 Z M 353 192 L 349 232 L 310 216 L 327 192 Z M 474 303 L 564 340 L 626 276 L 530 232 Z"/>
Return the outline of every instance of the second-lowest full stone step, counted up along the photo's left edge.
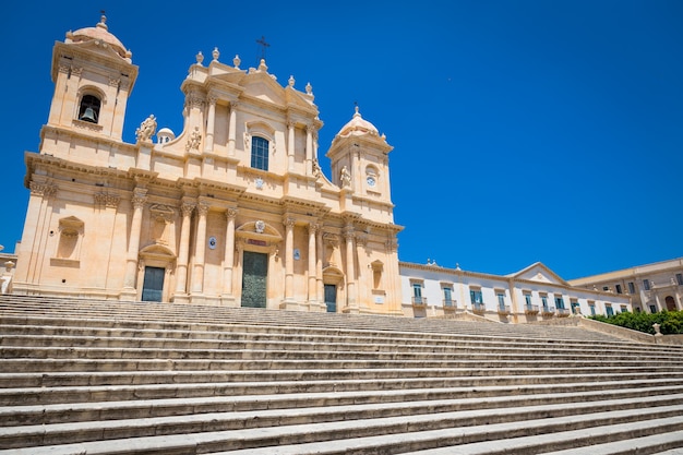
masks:
<path fill-rule="evenodd" d="M 523 391 L 525 392 L 525 391 Z M 493 393 L 493 395 L 491 395 Z M 412 399 L 424 396 L 423 391 L 408 393 L 402 397 L 396 391 L 369 394 L 361 392 L 242 395 L 221 397 L 190 397 L 166 399 L 135 399 L 127 402 L 60 403 L 53 405 L 0 407 L 0 427 L 43 426 L 79 421 L 118 419 L 143 419 L 211 412 L 261 412 L 259 420 L 244 419 L 242 424 L 266 426 L 274 416 L 281 423 L 283 418 L 310 412 L 312 421 L 332 421 L 350 418 L 407 416 L 429 412 L 448 412 L 502 407 L 523 407 L 565 403 L 612 400 L 620 403 L 634 398 L 636 402 L 680 404 L 681 386 L 639 386 L 608 391 L 522 393 L 498 387 L 490 391 L 459 391 L 457 398 L 443 397 L 440 391 L 427 395 L 427 399 Z M 647 397 L 646 397 L 647 395 Z M 451 395 L 453 396 L 453 395 Z M 621 405 L 618 405 L 621 406 Z M 654 405 L 651 405 L 654 406 Z M 263 414 L 263 411 L 267 411 Z M 344 418 L 342 418 L 342 412 Z M 360 416 L 363 417 L 360 417 Z M 269 417 L 268 417 L 269 416 Z M 325 417 L 327 416 L 327 417 Z M 268 417 L 271 420 L 266 420 Z"/>

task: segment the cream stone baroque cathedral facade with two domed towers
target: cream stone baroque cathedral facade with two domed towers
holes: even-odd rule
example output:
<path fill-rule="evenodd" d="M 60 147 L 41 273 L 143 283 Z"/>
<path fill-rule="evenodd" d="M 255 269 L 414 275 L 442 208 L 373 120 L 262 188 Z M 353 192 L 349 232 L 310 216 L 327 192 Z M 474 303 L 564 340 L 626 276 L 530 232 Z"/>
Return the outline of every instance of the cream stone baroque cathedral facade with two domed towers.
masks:
<path fill-rule="evenodd" d="M 181 84 L 183 131 L 151 116 L 127 143 L 131 57 L 104 16 L 55 44 L 14 292 L 403 314 L 392 146 L 358 109 L 329 180 L 310 85 L 214 51 Z"/>

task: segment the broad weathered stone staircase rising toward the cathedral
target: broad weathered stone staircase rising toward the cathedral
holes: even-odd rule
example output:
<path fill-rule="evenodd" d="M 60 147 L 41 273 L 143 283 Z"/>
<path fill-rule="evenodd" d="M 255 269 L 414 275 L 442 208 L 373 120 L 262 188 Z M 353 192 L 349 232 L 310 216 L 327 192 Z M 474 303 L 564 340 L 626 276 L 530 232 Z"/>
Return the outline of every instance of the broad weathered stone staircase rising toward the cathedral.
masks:
<path fill-rule="evenodd" d="M 0 296 L 0 454 L 682 454 L 683 348 Z"/>

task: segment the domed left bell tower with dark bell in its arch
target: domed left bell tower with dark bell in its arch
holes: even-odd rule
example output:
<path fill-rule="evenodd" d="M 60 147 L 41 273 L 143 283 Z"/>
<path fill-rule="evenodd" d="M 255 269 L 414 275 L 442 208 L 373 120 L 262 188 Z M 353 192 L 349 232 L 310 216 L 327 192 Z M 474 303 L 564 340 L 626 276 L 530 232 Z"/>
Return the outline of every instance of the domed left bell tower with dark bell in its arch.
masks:
<path fill-rule="evenodd" d="M 131 56 L 109 33 L 104 14 L 96 26 L 68 32 L 63 43 L 55 43 L 55 95 L 46 130 L 70 129 L 120 141 L 125 105 L 137 76 Z"/>

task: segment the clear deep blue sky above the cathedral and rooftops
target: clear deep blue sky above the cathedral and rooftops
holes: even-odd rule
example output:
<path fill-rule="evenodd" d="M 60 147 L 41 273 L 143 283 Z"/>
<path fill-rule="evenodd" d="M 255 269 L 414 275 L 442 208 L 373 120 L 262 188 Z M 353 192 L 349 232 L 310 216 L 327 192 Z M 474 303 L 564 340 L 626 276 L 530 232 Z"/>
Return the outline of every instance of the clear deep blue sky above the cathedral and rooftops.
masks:
<path fill-rule="evenodd" d="M 399 259 L 565 279 L 683 256 L 683 1 L 10 2 L 0 29 L 4 219 L 21 239 L 55 40 L 94 26 L 140 75 L 124 140 L 154 113 L 180 133 L 194 56 L 313 86 L 320 158 L 354 113 L 385 133 Z"/>

